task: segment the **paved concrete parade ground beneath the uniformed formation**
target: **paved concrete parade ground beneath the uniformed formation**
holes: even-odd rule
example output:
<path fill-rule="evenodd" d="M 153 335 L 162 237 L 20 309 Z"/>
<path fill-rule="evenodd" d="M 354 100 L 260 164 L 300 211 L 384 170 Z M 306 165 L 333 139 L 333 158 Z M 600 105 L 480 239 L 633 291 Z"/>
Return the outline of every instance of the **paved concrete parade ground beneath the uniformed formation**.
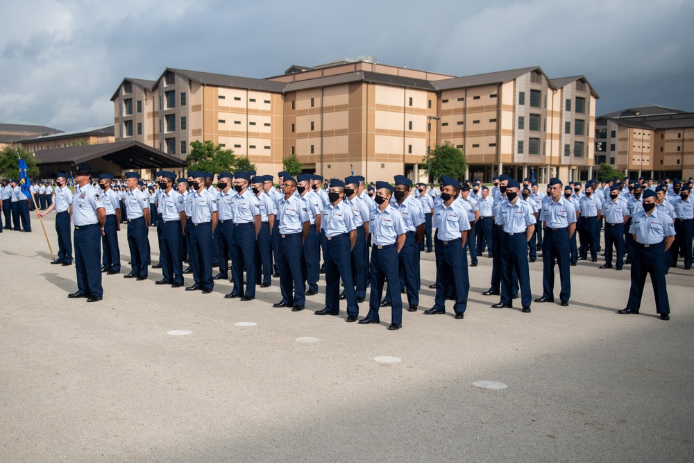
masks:
<path fill-rule="evenodd" d="M 57 253 L 54 219 L 44 224 Z M 450 301 L 446 315 L 422 313 L 435 276 L 423 254 L 419 311 L 389 331 L 389 308 L 380 325 L 345 323 L 345 301 L 338 317 L 316 317 L 323 280 L 307 310 L 291 312 L 271 306 L 275 278 L 245 303 L 223 298 L 225 280 L 201 294 L 154 285 L 151 268 L 147 281 L 124 279 L 126 226 L 123 270 L 103 276 L 103 301 L 68 299 L 75 267 L 49 264 L 35 212 L 31 221 L 33 233 L 0 235 L 3 462 L 694 459 L 694 271 L 667 277 L 670 321 L 655 313 L 650 280 L 641 314 L 616 314 L 629 265 L 600 270 L 600 260 L 571 267 L 568 308 L 557 298 L 523 314 L 519 300 L 489 307 L 485 255 L 456 320 Z M 158 262 L 154 228 L 149 237 Z M 541 296 L 541 259 L 530 278 Z"/>

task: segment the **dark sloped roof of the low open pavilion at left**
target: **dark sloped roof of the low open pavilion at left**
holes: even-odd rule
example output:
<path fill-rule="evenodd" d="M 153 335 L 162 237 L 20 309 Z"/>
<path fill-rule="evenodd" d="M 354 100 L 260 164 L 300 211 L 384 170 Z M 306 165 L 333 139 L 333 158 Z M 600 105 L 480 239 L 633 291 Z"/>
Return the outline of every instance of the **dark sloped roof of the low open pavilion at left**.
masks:
<path fill-rule="evenodd" d="M 119 165 L 121 169 L 156 169 L 159 167 L 184 167 L 185 160 L 176 158 L 140 142 L 115 142 L 44 149 L 34 153 L 36 163 L 64 164 L 87 162 L 103 158 Z"/>

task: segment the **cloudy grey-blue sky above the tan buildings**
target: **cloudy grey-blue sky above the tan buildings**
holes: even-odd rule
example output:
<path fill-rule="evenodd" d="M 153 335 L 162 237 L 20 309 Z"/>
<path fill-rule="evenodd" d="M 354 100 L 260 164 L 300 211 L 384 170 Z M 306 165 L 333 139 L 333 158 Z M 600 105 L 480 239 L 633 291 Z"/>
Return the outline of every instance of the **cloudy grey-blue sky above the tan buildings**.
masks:
<path fill-rule="evenodd" d="M 539 65 L 584 74 L 598 115 L 694 112 L 691 0 L 24 0 L 0 17 L 0 121 L 113 122 L 124 77 L 166 67 L 262 78 L 375 56 L 464 76 Z"/>

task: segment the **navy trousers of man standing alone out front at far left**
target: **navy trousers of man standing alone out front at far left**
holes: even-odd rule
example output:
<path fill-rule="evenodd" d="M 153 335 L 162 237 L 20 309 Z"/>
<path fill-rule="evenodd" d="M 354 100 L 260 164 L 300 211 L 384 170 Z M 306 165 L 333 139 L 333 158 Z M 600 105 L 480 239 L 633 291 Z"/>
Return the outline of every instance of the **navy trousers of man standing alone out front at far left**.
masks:
<path fill-rule="evenodd" d="M 74 240 L 77 292 L 101 297 L 101 227 L 99 224 L 75 227 Z"/>

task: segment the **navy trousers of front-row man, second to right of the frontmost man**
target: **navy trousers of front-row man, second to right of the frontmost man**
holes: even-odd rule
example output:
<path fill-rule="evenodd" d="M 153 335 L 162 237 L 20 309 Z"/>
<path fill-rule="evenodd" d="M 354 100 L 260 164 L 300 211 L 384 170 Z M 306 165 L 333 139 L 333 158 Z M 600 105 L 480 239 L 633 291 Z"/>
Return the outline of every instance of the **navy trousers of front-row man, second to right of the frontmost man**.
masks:
<path fill-rule="evenodd" d="M 513 305 L 511 280 L 516 279 L 516 283 L 520 283 L 521 286 L 521 303 L 524 307 L 530 307 L 532 294 L 530 294 L 530 271 L 527 266 L 525 232 L 516 235 L 504 233 L 501 239 L 501 252 L 506 256 L 501 274 L 501 303 Z"/>

